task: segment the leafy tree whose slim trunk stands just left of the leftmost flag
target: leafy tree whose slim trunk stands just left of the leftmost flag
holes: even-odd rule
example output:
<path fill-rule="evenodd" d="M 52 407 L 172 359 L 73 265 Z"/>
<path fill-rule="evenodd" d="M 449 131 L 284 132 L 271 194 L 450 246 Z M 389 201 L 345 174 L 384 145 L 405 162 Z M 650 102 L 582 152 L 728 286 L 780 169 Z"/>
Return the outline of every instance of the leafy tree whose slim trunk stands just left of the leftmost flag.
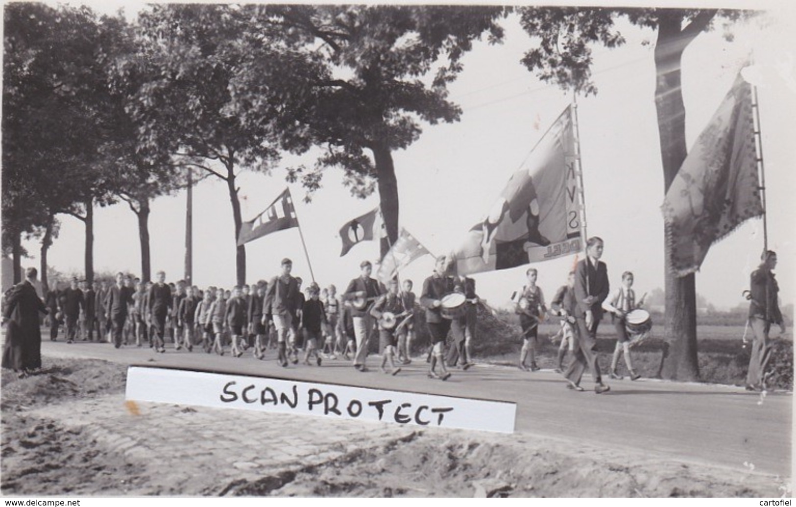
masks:
<path fill-rule="evenodd" d="M 237 283 L 246 282 L 246 250 L 237 246 L 242 217 L 236 177 L 248 169 L 267 174 L 282 150 L 297 153 L 310 144 L 294 117 L 304 89 L 303 61 L 271 33 L 253 36 L 237 6 L 154 6 L 142 14 L 148 68 L 131 96 L 129 111 L 139 123 L 144 149 L 168 146 L 182 165 L 224 181 L 234 222 Z M 257 60 L 260 64 L 252 64 Z M 140 72 L 140 71 L 136 71 Z M 244 80 L 244 74 L 250 80 Z M 244 94 L 245 82 L 256 94 Z M 252 101 L 258 117 L 246 116 Z M 293 106 L 295 104 L 295 107 Z"/>

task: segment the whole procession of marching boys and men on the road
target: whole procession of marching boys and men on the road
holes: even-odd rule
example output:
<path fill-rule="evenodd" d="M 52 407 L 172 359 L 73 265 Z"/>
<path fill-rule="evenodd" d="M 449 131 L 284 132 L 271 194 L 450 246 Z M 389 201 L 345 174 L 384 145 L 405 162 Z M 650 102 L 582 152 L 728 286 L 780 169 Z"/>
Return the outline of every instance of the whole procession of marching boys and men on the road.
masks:
<path fill-rule="evenodd" d="M 623 354 L 630 380 L 640 378 L 633 368 L 630 345 L 648 336 L 652 322 L 649 313 L 640 310 L 644 296 L 636 298 L 633 273 L 622 273 L 621 286 L 609 291 L 607 267 L 599 260 L 602 253 L 603 240 L 590 238 L 586 258 L 569 273 L 568 283 L 556 291 L 550 308 L 537 286 L 537 270 L 532 267 L 526 271 L 525 284 L 511 296 L 522 330 L 520 369 L 540 369 L 536 361 L 538 325 L 545 316 L 552 315 L 561 318 L 560 330 L 552 337 L 553 341 L 560 339 L 556 372 L 566 377 L 568 388 L 583 391 L 580 380 L 588 369 L 595 380 L 595 392 L 609 391 L 596 359 L 597 326 L 603 314 L 608 313 L 617 335 L 609 376 L 615 380 L 623 378 L 618 372 Z M 758 326 L 758 322 L 775 322 L 784 328 L 777 305 L 778 287 L 771 275 L 775 263 L 776 254 L 767 252 L 760 269 L 752 275 L 749 298 L 755 347 L 747 385 L 755 390 L 762 389 L 761 379 L 770 355 L 768 328 Z M 268 349 L 276 349 L 277 361 L 283 367 L 297 365 L 302 350 L 305 365 L 320 366 L 324 359 L 341 357 L 353 361 L 357 371 L 367 372 L 369 343 L 378 335 L 380 370 L 392 375 L 401 371 L 401 365 L 412 362 L 417 306 L 425 313 L 430 335 L 427 374 L 429 378 L 447 380 L 451 377 L 449 368 L 458 365 L 464 371 L 473 365 L 471 345 L 479 303 L 474 280 L 450 275 L 450 267 L 446 256 L 438 257 L 434 272 L 423 281 L 417 299 L 412 280 L 401 283 L 392 279 L 385 287 L 371 276 L 373 265 L 367 260 L 360 264 L 360 275 L 350 281 L 342 294 L 338 295 L 334 285 L 321 289 L 313 282 L 305 295 L 302 279 L 291 275 L 291 259 L 283 259 L 279 275 L 253 287 L 227 291 L 208 287 L 201 291 L 183 281 L 167 284 L 163 271 L 158 271 L 154 283 L 118 273 L 110 287 L 106 283 L 90 287 L 72 279 L 70 287 L 49 291 L 45 305 L 49 308 L 53 341 L 57 340 L 59 326 L 65 324 L 67 343 L 92 341 L 96 331 L 98 339 L 106 337 L 116 348 L 149 345 L 157 353 L 166 352 L 166 341 L 171 341 L 176 351 L 191 352 L 194 345 L 201 345 L 206 353 L 220 356 L 228 351 L 241 357 L 252 349 L 257 359 L 263 359 Z M 453 337 L 451 346 L 446 345 L 449 333 Z M 573 357 L 564 371 L 567 350 Z"/>

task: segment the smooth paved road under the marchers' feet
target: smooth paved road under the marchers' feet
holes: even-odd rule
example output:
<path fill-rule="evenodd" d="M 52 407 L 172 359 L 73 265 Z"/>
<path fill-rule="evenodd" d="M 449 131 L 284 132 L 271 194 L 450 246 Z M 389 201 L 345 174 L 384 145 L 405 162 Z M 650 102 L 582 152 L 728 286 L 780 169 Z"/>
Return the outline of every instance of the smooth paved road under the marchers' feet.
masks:
<path fill-rule="evenodd" d="M 44 341 L 42 353 L 51 357 L 92 357 L 130 365 L 177 367 L 206 372 L 240 373 L 289 380 L 350 384 L 397 391 L 447 396 L 470 396 L 517 403 L 517 432 L 569 442 L 603 444 L 617 450 L 643 450 L 685 462 L 727 466 L 791 477 L 793 399 L 790 393 L 746 392 L 715 384 L 685 384 L 657 380 L 614 380 L 611 392 L 573 392 L 552 371 L 477 365 L 454 370 L 442 382 L 426 377 L 425 362 L 415 361 L 399 376 L 372 369 L 357 372 L 348 361 L 325 361 L 323 366 L 281 368 L 268 351 L 267 360 L 248 354 L 234 358 L 203 352 L 153 353 L 108 344 Z M 377 367 L 378 357 L 369 358 Z M 584 376 L 583 386 L 591 387 Z"/>

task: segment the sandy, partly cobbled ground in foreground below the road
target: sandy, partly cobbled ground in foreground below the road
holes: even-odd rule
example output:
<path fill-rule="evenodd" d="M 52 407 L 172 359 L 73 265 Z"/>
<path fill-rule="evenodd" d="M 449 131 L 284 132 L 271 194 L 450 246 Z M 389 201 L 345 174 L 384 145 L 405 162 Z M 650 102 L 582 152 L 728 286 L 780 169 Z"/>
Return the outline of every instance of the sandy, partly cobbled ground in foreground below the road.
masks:
<path fill-rule="evenodd" d="M 2 372 L 5 495 L 780 497 L 789 481 L 566 439 L 125 406 L 127 367 Z M 232 431 L 230 431 L 232 430 Z"/>

